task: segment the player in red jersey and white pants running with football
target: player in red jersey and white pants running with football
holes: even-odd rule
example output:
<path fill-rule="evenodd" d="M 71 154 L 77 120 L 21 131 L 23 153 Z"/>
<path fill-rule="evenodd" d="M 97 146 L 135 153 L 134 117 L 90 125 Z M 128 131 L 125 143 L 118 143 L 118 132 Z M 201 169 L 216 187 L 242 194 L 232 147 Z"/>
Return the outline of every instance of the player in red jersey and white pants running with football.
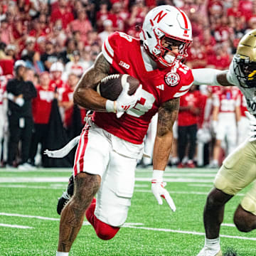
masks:
<path fill-rule="evenodd" d="M 191 32 L 191 23 L 183 11 L 158 6 L 146 15 L 140 38 L 113 33 L 103 43 L 95 64 L 82 75 L 74 102 L 95 112 L 80 136 L 74 164 L 75 193 L 61 213 L 56 256 L 68 255 L 84 215 L 104 240 L 113 238 L 124 224 L 134 191 L 134 171 L 143 154 L 144 135 L 156 112 L 159 117 L 151 190 L 159 204 L 164 197 L 171 210 L 176 210 L 164 188 L 163 174 L 179 97 L 193 83 L 191 70 L 181 63 L 191 43 Z M 124 86 L 116 101 L 107 100 L 95 92 L 95 87 L 113 73 L 132 75 L 142 87 L 129 96 Z"/>

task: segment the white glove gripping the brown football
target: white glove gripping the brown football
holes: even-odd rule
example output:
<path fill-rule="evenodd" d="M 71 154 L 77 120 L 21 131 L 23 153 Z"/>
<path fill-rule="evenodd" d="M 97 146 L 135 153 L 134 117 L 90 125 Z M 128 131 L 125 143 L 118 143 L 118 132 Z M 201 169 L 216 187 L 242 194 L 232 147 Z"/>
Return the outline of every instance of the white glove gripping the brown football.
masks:
<path fill-rule="evenodd" d="M 106 102 L 106 110 L 107 112 L 114 112 L 117 114 L 117 118 L 122 117 L 124 112 L 130 110 L 132 107 L 136 105 L 137 100 L 141 97 L 142 85 L 139 85 L 136 92 L 133 95 L 128 94 L 129 91 L 129 83 L 127 82 L 121 94 L 118 96 L 117 100 L 107 100 Z"/>

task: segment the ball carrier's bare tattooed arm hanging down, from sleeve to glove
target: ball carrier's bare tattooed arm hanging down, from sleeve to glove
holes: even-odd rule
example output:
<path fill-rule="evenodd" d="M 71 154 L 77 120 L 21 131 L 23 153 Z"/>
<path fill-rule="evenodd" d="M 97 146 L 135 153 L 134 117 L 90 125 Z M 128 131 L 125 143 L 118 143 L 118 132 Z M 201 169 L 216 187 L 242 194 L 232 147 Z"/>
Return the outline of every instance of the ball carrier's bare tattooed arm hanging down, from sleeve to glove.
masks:
<path fill-rule="evenodd" d="M 164 102 L 159 107 L 156 139 L 154 142 L 153 168 L 163 170 L 166 168 L 173 142 L 172 127 L 178 116 L 179 98 Z"/>

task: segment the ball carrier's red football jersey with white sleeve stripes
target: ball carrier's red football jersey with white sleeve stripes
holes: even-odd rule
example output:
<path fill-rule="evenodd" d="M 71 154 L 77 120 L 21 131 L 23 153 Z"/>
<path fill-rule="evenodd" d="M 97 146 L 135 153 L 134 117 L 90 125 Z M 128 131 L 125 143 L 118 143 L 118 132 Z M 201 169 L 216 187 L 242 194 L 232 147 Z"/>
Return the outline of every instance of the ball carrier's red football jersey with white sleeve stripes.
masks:
<path fill-rule="evenodd" d="M 92 120 L 121 139 L 142 144 L 149 122 L 162 103 L 188 92 L 193 83 L 192 72 L 182 63 L 175 68 L 147 71 L 139 39 L 122 32 L 106 39 L 102 53 L 111 64 L 110 73 L 132 75 L 142 83 L 142 97 L 119 119 L 114 113 L 95 112 Z"/>

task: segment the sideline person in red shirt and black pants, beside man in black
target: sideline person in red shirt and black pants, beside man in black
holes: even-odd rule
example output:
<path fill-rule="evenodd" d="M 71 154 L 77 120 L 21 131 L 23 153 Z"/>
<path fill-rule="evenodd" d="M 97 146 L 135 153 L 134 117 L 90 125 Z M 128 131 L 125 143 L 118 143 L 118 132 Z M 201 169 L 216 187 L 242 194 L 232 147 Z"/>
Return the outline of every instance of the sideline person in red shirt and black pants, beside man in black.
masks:
<path fill-rule="evenodd" d="M 45 156 L 43 151 L 46 149 L 48 138 L 48 122 L 50 119 L 50 110 L 55 97 L 55 87 L 50 84 L 50 75 L 48 72 L 41 73 L 40 84 L 36 86 L 37 97 L 32 102 L 33 120 L 35 123 L 34 132 L 30 149 L 31 164 L 35 164 L 35 156 L 38 150 L 38 144 L 41 143 L 42 166 L 45 166 Z"/>

